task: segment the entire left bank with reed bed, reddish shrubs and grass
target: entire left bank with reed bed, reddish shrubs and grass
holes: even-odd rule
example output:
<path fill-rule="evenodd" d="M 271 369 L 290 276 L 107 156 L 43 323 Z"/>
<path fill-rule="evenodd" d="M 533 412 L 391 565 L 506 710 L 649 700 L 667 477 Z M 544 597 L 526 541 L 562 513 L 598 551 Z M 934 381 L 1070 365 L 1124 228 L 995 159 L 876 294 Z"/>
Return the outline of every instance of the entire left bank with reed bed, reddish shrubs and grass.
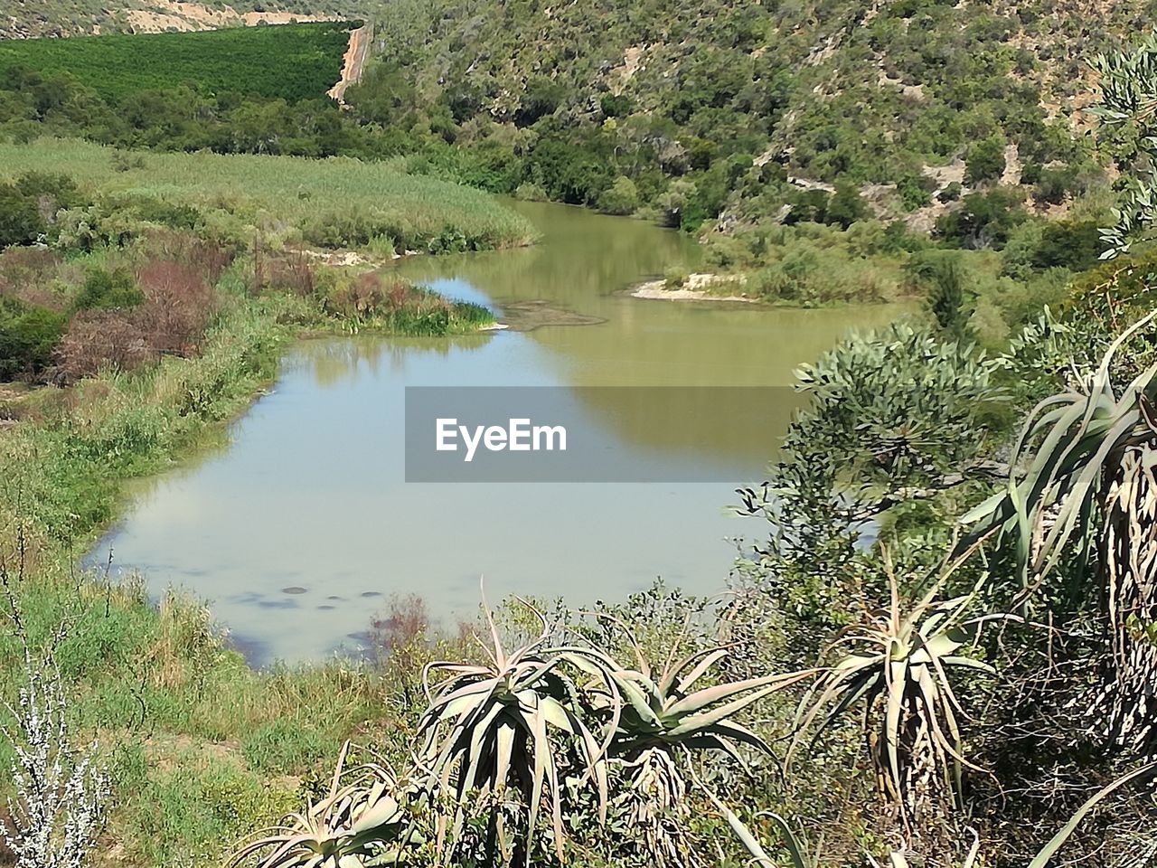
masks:
<path fill-rule="evenodd" d="M 485 194 L 356 161 L 2 147 L 13 181 L 0 185 L 0 243 L 12 245 L 0 253 L 0 383 L 19 382 L 0 384 L 0 573 L 35 643 L 68 626 L 56 659 L 69 718 L 98 740 L 113 785 L 97 863 L 219 866 L 315 792 L 345 738 L 390 751 L 407 714 L 396 672 L 253 672 L 199 603 L 156 605 L 141 584 L 113 587 L 76 562 L 116 518 L 125 483 L 219 437 L 272 381 L 287 340 L 492 322 L 364 264 L 331 266 L 311 244 L 386 258 L 532 233 Z M 0 603 L 9 703 L 24 678 L 10 616 Z M 0 845 L 0 865 L 9 855 Z"/>

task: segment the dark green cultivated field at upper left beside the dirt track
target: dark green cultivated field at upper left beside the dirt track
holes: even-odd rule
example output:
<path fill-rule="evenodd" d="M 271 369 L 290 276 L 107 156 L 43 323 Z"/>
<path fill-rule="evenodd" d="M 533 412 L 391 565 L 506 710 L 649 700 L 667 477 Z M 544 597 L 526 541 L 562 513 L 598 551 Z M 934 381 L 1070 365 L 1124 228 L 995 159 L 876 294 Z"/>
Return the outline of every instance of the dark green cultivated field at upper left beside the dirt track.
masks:
<path fill-rule="evenodd" d="M 0 69 L 67 73 L 102 96 L 193 84 L 290 102 L 323 97 L 341 78 L 351 22 L 0 43 Z"/>

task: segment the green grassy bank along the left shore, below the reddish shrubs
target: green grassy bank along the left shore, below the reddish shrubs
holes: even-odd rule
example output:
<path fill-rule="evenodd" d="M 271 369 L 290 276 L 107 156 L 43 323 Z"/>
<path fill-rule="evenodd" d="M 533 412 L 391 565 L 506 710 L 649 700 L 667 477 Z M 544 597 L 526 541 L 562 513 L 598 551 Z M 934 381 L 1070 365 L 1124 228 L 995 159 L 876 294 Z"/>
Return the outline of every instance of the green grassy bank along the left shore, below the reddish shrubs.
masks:
<path fill-rule="evenodd" d="M 65 267 L 110 265 L 109 256 Z M 281 348 L 301 331 L 429 334 L 488 319 L 480 308 L 366 275 L 315 271 L 320 288 L 307 295 L 268 281 L 255 290 L 252 272 L 238 260 L 216 281 L 216 312 L 186 358 L 164 354 L 134 372 L 104 365 L 66 388 L 0 387 L 0 415 L 14 417 L 0 422 L 0 560 L 37 641 L 68 625 L 56 657 L 74 697 L 69 711 L 79 731 L 100 740 L 115 781 L 101 865 L 220 865 L 238 837 L 312 792 L 342 740 L 373 731 L 389 745 L 396 730 L 390 676 L 337 662 L 257 674 L 202 605 L 170 595 L 157 606 L 139 583 L 76 572 L 118 514 L 125 481 L 218 436 L 272 381 Z M 366 307 L 374 297 L 381 310 Z M 0 631 L 7 700 L 21 686 L 19 654 Z M 0 767 L 12 759 L 3 742 Z"/>

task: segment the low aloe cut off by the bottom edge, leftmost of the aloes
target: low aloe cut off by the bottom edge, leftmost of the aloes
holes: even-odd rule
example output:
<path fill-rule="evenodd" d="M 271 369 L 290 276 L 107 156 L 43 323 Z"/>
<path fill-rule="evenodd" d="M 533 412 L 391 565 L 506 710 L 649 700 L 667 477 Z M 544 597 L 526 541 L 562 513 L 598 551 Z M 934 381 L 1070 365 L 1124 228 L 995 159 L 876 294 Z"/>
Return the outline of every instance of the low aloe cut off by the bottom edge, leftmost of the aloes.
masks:
<path fill-rule="evenodd" d="M 255 860 L 258 868 L 404 863 L 408 847 L 420 844 L 421 834 L 397 799 L 397 782 L 376 763 L 346 770 L 348 753 L 346 742 L 325 799 L 243 841 L 229 865 Z"/>

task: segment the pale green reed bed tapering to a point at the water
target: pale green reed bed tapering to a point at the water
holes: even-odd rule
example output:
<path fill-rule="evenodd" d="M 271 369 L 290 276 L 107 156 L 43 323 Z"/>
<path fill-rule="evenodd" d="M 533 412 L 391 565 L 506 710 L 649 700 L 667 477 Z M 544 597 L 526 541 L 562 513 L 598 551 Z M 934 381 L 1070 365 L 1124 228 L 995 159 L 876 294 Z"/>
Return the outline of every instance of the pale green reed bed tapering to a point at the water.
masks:
<path fill-rule="evenodd" d="M 72 140 L 0 145 L 2 172 L 62 172 L 112 200 L 193 206 L 222 231 L 297 227 L 323 247 L 359 247 L 375 237 L 428 245 L 460 238 L 465 248 L 526 244 L 535 229 L 488 193 L 390 163 L 336 157 L 126 154 Z M 437 252 L 437 249 L 434 250 Z"/>

